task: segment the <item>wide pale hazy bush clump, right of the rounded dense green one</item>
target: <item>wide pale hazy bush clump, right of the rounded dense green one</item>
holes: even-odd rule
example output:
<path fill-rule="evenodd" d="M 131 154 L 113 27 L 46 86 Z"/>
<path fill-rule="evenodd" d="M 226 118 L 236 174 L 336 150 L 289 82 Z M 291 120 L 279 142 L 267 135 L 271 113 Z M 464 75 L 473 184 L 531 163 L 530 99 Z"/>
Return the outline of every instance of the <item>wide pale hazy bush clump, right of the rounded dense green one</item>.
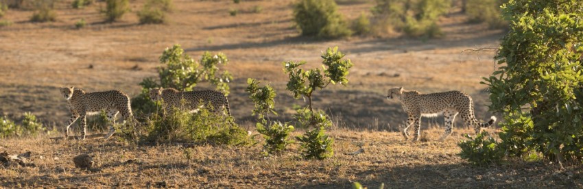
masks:
<path fill-rule="evenodd" d="M 377 0 L 373 21 L 377 33 L 403 32 L 406 36 L 442 36 L 438 18 L 449 10 L 450 0 Z"/>

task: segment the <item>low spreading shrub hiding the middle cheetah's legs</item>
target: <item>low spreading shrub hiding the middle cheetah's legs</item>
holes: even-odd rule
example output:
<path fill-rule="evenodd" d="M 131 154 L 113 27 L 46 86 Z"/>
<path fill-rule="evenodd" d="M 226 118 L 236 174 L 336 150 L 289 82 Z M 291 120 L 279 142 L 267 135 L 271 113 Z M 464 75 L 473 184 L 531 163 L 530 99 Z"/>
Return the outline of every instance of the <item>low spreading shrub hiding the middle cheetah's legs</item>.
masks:
<path fill-rule="evenodd" d="M 166 117 L 151 114 L 146 121 L 145 142 L 210 142 L 213 144 L 247 145 L 251 140 L 232 117 L 200 108 L 195 114 L 174 108 Z"/>

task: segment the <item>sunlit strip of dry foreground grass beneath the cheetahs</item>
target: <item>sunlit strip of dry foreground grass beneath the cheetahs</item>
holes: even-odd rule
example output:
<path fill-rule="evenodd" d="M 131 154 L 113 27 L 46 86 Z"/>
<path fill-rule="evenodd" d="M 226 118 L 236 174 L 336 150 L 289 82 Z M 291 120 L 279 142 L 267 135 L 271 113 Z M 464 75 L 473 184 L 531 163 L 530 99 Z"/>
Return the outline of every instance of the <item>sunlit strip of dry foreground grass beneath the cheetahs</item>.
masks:
<path fill-rule="evenodd" d="M 348 188 L 353 181 L 376 188 L 580 188 L 580 168 L 559 171 L 553 164 L 512 162 L 473 167 L 456 155 L 455 144 L 471 130 L 455 130 L 446 142 L 442 129 L 426 131 L 429 141 L 407 142 L 394 132 L 333 130 L 335 155 L 302 160 L 297 145 L 279 157 L 262 157 L 261 145 L 136 146 L 102 140 L 9 139 L 0 151 L 32 151 L 36 167 L 0 168 L 0 186 L 8 188 L 160 187 L 171 188 Z M 294 135 L 300 133 L 296 132 Z M 364 153 L 351 153 L 364 149 Z M 93 155 L 88 171 L 73 157 Z M 189 154 L 189 155 L 187 155 Z M 1 166 L 0 166 L 1 167 Z"/>

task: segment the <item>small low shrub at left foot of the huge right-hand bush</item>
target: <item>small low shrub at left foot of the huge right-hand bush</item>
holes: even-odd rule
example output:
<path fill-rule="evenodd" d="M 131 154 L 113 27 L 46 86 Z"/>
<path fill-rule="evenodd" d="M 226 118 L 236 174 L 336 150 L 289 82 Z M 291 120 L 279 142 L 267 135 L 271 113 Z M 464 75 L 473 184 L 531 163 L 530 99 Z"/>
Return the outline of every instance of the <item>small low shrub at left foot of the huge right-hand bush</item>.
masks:
<path fill-rule="evenodd" d="M 468 140 L 457 144 L 462 149 L 458 155 L 479 166 L 501 162 L 504 157 L 503 149 L 499 149 L 499 144 L 494 138 L 486 136 L 488 136 L 486 131 L 477 134 L 475 138 L 466 136 Z"/>

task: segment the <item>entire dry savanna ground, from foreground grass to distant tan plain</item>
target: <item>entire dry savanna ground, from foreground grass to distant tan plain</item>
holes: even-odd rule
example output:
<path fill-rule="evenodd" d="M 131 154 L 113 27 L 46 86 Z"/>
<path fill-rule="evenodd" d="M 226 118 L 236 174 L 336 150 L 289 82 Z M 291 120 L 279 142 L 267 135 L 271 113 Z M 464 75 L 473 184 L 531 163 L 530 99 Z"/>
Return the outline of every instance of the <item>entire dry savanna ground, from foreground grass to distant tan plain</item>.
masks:
<path fill-rule="evenodd" d="M 104 23 L 99 14 L 104 1 L 80 10 L 72 9 L 71 2 L 57 1 L 55 22 L 29 22 L 32 10 L 10 9 L 3 16 L 13 24 L 0 27 L 0 115 L 18 122 L 24 112 L 32 112 L 62 132 L 69 112 L 58 87 L 119 89 L 136 96 L 139 82 L 157 75 L 163 50 L 180 44 L 195 59 L 204 51 L 227 55 L 230 62 L 222 68 L 235 77 L 228 97 L 231 112 L 237 123 L 254 130 L 252 101 L 243 91 L 247 78 L 274 86 L 278 119 L 292 121 L 292 107 L 305 101 L 285 91 L 282 62 L 306 60 L 308 66 L 319 66 L 320 51 L 337 46 L 355 64 L 350 83 L 317 91 L 314 97 L 315 107 L 334 120 L 329 133 L 335 155 L 302 160 L 292 144 L 283 155 L 263 157 L 259 137 L 252 147 L 136 146 L 117 139 L 55 141 L 50 135 L 10 138 L 0 139 L 0 152 L 31 151 L 31 164 L 0 166 L 2 187 L 348 188 L 353 181 L 370 188 L 583 187 L 580 168 L 560 170 L 551 162 L 471 166 L 456 155 L 456 143 L 473 132 L 460 121 L 445 142 L 436 142 L 443 132 L 441 116 L 423 119 L 421 142 L 407 142 L 395 132 L 406 114 L 399 103 L 385 98 L 394 86 L 421 92 L 462 90 L 473 97 L 478 119 L 491 116 L 486 86 L 479 82 L 495 71 L 494 54 L 464 50 L 497 48 L 504 31 L 467 23 L 459 8 L 440 18 L 446 35 L 439 39 L 396 35 L 315 40 L 300 36 L 294 26 L 292 0 L 174 0 L 169 23 L 162 25 L 139 24 L 134 13 L 143 0 L 130 1 L 133 12 L 115 23 Z M 366 0 L 340 2 L 348 20 L 374 5 Z M 258 6 L 260 12 L 252 11 Z M 233 9 L 239 10 L 236 16 L 229 14 Z M 86 27 L 75 29 L 82 18 Z M 497 128 L 488 131 L 496 133 Z M 73 166 L 80 153 L 93 155 L 94 168 Z"/>

